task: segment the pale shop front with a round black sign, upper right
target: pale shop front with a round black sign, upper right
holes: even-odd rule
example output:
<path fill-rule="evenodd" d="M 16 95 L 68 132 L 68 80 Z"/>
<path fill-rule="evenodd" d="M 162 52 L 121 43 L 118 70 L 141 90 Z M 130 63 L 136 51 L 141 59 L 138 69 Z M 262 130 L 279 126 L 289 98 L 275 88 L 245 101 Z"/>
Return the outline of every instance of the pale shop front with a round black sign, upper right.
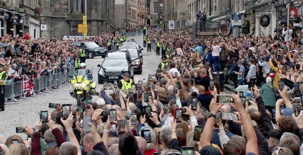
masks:
<path fill-rule="evenodd" d="M 277 25 L 276 10 L 273 5 L 256 9 L 255 34 L 259 36 L 264 33 L 265 36 L 274 36 L 274 30 Z"/>

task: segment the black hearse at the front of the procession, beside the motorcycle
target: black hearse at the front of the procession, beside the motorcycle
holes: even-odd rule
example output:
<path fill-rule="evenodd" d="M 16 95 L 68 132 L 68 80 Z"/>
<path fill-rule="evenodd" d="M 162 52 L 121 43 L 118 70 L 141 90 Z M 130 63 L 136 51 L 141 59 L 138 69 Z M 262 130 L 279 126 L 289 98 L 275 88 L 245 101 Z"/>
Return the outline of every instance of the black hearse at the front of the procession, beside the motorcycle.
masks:
<path fill-rule="evenodd" d="M 134 77 L 134 65 L 128 51 L 115 51 L 108 53 L 101 65 L 98 65 L 98 83 L 104 81 L 118 81 L 123 79 L 122 73 L 128 72 L 129 77 Z"/>

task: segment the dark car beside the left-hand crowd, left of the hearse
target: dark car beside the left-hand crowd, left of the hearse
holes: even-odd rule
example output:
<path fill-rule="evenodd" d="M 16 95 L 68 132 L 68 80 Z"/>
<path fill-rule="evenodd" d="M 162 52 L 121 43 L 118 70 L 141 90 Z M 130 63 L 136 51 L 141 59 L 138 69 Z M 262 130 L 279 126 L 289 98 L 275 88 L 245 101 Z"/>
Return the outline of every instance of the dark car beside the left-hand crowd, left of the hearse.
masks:
<path fill-rule="evenodd" d="M 74 42 L 75 46 L 84 48 L 86 52 L 86 57 L 92 59 L 93 57 L 101 56 L 104 58 L 108 53 L 105 47 L 99 47 L 95 42 Z"/>

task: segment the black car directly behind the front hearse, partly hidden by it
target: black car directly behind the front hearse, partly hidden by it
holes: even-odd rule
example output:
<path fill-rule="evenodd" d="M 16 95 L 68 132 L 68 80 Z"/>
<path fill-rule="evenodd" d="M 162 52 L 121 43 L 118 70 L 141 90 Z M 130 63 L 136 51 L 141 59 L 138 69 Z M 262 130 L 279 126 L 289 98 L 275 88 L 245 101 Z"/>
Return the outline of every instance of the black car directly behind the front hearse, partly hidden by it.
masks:
<path fill-rule="evenodd" d="M 118 51 L 125 51 L 125 50 L 127 50 L 128 53 L 130 54 L 132 64 L 134 65 L 134 72 L 136 72 L 137 74 L 142 74 L 143 58 L 140 57 L 138 50 L 132 48 L 128 48 L 128 49 L 124 48 L 124 49 L 119 49 Z"/>

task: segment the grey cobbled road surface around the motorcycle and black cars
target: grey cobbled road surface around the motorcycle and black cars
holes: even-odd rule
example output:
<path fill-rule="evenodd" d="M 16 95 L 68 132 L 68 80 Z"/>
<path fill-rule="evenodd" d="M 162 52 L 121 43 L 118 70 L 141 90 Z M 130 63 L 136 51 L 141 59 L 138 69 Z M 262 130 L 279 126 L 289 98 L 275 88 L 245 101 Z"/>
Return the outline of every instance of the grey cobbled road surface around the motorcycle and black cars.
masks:
<path fill-rule="evenodd" d="M 130 39 L 135 39 L 136 42 L 143 47 L 143 35 L 136 37 L 129 37 Z M 161 57 L 157 56 L 153 50 L 151 53 L 146 51 L 146 47 L 143 48 L 143 70 L 141 75 L 134 75 L 134 81 L 138 82 L 143 78 L 147 79 L 148 74 L 154 74 L 161 62 Z M 101 57 L 95 57 L 94 59 L 86 60 L 87 69 L 92 71 L 93 80 L 97 83 L 97 71 L 99 67 L 98 64 L 102 64 L 104 59 Z M 103 84 L 97 84 L 96 90 L 100 91 Z M 76 99 L 72 98 L 69 94 L 71 85 L 67 84 L 60 89 L 55 89 L 49 94 L 35 95 L 34 97 L 27 98 L 27 100 L 19 100 L 17 103 L 8 102 L 5 107 L 4 112 L 0 112 L 0 135 L 4 136 L 6 140 L 8 136 L 17 134 L 16 127 L 21 127 L 29 125 L 31 127 L 35 126 L 35 123 L 39 119 L 40 111 L 48 111 L 48 115 L 51 114 L 54 109 L 48 108 L 48 103 L 60 103 L 60 104 L 73 104 L 76 105 Z M 98 96 L 93 96 L 92 101 L 99 99 Z M 27 135 L 24 133 L 18 133 L 24 140 Z"/>

